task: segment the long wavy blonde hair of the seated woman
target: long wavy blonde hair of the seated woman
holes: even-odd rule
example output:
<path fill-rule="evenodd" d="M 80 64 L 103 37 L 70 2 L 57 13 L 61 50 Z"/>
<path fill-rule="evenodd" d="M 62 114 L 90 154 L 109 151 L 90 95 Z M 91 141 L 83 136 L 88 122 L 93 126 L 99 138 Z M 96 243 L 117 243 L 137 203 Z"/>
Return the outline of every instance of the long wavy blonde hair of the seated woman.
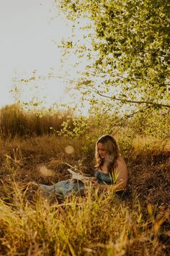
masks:
<path fill-rule="evenodd" d="M 104 145 L 104 149 L 107 150 L 108 158 L 109 158 L 109 166 L 108 171 L 109 174 L 112 174 L 114 169 L 117 167 L 117 158 L 120 156 L 120 150 L 117 146 L 117 142 L 115 141 L 114 137 L 111 135 L 102 135 L 102 137 L 99 137 L 99 140 L 97 140 L 96 143 L 96 149 L 95 149 L 95 160 L 96 160 L 96 168 L 100 168 L 103 163 L 104 159 L 99 157 L 98 148 L 97 145 L 99 143 L 102 143 Z"/>

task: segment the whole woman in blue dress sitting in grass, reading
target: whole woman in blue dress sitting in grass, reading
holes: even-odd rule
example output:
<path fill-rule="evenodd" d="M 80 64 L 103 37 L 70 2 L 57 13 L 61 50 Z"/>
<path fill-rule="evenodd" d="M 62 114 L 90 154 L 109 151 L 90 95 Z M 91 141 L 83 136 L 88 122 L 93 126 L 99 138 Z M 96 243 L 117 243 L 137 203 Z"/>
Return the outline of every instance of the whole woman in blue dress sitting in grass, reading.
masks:
<path fill-rule="evenodd" d="M 66 197 L 71 194 L 84 195 L 85 187 L 91 183 L 97 189 L 112 189 L 123 191 L 128 181 L 128 171 L 125 161 L 120 155 L 117 142 L 110 135 L 103 135 L 96 143 L 95 158 L 97 171 L 86 184 L 77 179 L 67 179 L 48 186 L 40 184 L 45 195 Z"/>

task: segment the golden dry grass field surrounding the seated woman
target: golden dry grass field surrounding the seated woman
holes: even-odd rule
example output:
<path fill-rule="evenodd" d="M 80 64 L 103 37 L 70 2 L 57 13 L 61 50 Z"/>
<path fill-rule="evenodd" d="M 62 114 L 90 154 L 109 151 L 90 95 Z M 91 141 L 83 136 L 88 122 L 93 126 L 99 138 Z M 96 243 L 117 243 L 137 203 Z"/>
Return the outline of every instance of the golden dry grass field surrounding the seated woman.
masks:
<path fill-rule="evenodd" d="M 169 255 L 169 145 L 117 140 L 128 164 L 126 194 L 89 189 L 60 201 L 42 197 L 38 184 L 69 179 L 68 164 L 93 175 L 94 142 L 1 138 L 0 255 Z"/>

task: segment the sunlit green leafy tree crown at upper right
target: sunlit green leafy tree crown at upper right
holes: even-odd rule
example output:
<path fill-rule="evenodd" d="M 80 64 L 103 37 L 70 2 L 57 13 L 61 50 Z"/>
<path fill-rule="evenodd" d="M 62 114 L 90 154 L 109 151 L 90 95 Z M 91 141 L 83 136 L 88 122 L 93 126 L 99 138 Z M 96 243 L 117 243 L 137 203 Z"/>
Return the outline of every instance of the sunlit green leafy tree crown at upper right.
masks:
<path fill-rule="evenodd" d="M 93 110 L 100 100 L 101 110 L 126 106 L 130 115 L 148 108 L 170 107 L 169 0 L 55 3 L 73 22 L 73 28 L 84 17 L 89 21 L 84 27 L 84 44 L 71 38 L 63 41 L 63 48 L 74 51 L 79 58 L 89 58 L 86 69 L 79 72 L 76 88 L 88 98 Z"/>

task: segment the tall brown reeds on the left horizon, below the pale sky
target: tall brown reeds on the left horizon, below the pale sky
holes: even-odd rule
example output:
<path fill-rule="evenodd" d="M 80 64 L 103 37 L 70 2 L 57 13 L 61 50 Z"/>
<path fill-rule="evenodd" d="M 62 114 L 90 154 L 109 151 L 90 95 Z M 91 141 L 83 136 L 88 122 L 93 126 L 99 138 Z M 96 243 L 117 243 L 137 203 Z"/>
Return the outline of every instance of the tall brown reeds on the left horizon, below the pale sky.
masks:
<path fill-rule="evenodd" d="M 53 134 L 62 129 L 65 121 L 73 129 L 72 118 L 71 110 L 40 115 L 34 111 L 24 111 L 21 106 L 14 104 L 1 108 L 0 132 L 4 137 Z"/>

